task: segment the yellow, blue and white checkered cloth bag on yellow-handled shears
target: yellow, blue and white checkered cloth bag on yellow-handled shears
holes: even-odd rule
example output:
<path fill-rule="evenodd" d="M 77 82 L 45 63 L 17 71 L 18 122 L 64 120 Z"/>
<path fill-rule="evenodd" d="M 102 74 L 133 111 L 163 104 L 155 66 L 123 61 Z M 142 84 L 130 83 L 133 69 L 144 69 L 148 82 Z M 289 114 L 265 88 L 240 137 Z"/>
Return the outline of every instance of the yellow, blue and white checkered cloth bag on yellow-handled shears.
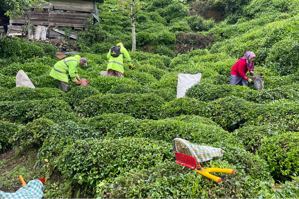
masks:
<path fill-rule="evenodd" d="M 179 152 L 195 158 L 196 163 L 212 160 L 215 157 L 221 157 L 225 151 L 212 146 L 200 146 L 182 138 L 175 138 L 172 141 L 173 152 Z"/>

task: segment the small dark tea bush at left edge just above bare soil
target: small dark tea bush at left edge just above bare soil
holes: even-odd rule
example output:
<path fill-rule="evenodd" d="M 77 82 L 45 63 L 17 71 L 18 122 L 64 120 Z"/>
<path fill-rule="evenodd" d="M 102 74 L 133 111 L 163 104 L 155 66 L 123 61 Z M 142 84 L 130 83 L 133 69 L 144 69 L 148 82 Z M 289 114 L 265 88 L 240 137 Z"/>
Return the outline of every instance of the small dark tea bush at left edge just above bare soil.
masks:
<path fill-rule="evenodd" d="M 0 150 L 9 149 L 12 146 L 9 139 L 19 130 L 19 127 L 11 122 L 0 121 L 0 129 Z"/>

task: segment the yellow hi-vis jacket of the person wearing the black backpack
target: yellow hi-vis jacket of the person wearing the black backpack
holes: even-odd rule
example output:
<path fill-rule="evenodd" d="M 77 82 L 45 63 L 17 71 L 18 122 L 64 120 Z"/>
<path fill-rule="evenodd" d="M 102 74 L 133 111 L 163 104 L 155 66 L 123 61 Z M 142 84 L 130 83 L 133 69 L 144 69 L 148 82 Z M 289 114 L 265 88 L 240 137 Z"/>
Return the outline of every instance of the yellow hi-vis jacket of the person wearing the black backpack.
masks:
<path fill-rule="evenodd" d="M 129 55 L 128 51 L 126 50 L 126 48 L 123 47 L 122 43 L 118 43 L 116 45 L 120 46 L 121 54 L 118 57 L 112 57 L 110 50 L 109 50 L 109 53 L 107 54 L 107 59 L 108 59 L 107 71 L 109 69 L 112 69 L 112 70 L 116 70 L 118 72 L 123 73 L 123 55 L 125 56 L 125 58 L 127 59 L 128 62 L 131 62 L 131 58 L 130 58 L 130 55 Z"/>

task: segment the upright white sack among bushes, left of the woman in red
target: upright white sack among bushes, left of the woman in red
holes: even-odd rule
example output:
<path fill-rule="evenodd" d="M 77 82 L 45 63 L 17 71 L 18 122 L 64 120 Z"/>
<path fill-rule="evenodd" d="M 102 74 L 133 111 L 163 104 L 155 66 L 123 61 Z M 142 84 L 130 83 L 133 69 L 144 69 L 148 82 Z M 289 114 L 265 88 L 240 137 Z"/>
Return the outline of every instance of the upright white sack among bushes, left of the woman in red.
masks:
<path fill-rule="evenodd" d="M 199 84 L 202 74 L 178 74 L 178 88 L 176 90 L 176 97 L 181 98 L 185 96 L 186 90 L 191 88 L 194 84 Z"/>

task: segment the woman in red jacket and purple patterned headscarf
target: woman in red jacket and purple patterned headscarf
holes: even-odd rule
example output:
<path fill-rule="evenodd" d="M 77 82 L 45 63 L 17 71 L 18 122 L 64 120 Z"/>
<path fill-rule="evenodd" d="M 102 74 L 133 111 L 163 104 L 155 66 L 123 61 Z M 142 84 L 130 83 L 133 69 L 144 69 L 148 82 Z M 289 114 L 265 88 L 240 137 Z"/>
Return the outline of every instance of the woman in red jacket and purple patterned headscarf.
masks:
<path fill-rule="evenodd" d="M 253 75 L 255 55 L 251 51 L 247 51 L 245 55 L 240 58 L 237 63 L 231 67 L 231 84 L 247 86 L 252 82 L 252 79 L 246 76 L 246 72 L 249 71 L 250 75 Z"/>

